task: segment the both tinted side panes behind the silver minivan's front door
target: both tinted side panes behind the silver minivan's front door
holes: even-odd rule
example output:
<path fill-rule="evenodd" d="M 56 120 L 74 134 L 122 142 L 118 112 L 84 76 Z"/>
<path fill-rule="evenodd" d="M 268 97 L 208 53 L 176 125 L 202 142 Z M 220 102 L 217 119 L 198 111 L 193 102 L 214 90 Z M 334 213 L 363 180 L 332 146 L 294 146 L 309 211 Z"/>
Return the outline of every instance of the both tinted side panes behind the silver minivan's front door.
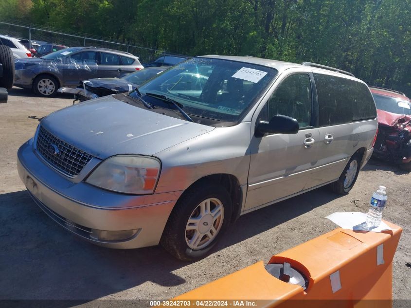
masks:
<path fill-rule="evenodd" d="M 314 74 L 319 100 L 319 126 L 374 119 L 376 109 L 368 87 L 355 80 Z"/>

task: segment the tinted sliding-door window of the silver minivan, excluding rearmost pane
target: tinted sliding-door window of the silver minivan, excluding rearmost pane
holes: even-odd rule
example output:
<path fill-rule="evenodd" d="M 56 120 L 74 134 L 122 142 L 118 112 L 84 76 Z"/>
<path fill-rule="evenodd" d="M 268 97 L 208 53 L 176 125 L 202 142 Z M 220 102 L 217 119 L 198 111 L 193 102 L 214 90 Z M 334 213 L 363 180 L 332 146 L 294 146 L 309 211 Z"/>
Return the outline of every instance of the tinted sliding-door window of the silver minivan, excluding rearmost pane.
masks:
<path fill-rule="evenodd" d="M 345 78 L 331 75 L 314 74 L 319 105 L 319 126 L 352 122 L 351 87 L 345 80 Z"/>

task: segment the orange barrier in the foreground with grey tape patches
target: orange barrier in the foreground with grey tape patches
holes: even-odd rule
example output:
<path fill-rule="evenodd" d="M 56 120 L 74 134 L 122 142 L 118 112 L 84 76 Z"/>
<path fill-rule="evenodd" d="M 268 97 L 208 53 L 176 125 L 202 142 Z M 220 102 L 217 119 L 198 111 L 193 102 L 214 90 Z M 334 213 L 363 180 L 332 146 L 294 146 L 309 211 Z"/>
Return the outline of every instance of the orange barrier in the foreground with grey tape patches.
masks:
<path fill-rule="evenodd" d="M 266 267 L 262 261 L 257 262 L 172 301 L 190 300 L 192 307 L 203 306 L 202 301 L 209 301 L 211 307 L 220 306 L 221 302 L 213 300 L 228 300 L 229 307 L 361 308 L 370 307 L 370 301 L 364 300 L 376 300 L 372 301 L 373 308 L 389 307 L 393 294 L 393 256 L 402 229 L 386 223 L 392 231 L 335 229 L 272 256 Z M 285 262 L 290 268 L 284 266 Z M 305 290 L 303 283 L 287 283 L 268 272 L 278 270 L 283 280 L 288 280 L 290 270 L 291 276 L 302 276 Z"/>

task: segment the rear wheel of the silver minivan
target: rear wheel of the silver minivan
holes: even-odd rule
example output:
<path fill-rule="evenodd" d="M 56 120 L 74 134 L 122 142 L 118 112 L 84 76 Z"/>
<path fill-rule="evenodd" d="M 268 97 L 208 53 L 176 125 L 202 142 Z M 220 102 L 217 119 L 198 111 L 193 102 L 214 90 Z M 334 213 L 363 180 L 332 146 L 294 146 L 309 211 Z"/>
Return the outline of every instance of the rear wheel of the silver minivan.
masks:
<path fill-rule="evenodd" d="M 348 194 L 357 181 L 360 164 L 360 156 L 354 154 L 342 171 L 338 181 L 331 183 L 332 191 L 340 195 Z"/>

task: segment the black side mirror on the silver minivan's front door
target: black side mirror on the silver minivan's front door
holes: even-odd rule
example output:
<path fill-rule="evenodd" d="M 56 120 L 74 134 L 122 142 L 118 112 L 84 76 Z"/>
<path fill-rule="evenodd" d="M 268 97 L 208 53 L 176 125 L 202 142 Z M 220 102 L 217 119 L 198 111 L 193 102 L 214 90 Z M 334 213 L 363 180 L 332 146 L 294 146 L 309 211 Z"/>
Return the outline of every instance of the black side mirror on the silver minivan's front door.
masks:
<path fill-rule="evenodd" d="M 261 121 L 255 127 L 255 136 L 262 137 L 264 134 L 296 134 L 298 133 L 298 121 L 286 115 L 277 114 L 269 122 Z"/>

